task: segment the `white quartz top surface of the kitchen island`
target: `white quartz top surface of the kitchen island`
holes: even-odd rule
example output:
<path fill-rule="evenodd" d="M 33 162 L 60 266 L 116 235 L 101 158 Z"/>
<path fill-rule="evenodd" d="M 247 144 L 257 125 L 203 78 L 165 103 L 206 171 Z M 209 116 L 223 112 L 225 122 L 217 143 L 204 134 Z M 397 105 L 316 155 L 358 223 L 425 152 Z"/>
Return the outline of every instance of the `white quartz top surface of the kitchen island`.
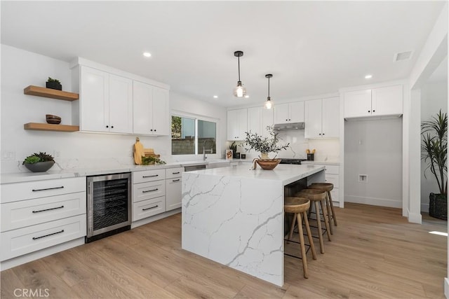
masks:
<path fill-rule="evenodd" d="M 256 169 L 250 170 L 250 165 L 238 165 L 235 167 L 222 167 L 213 169 L 196 170 L 187 174 L 208 174 L 213 176 L 238 176 L 250 179 L 266 179 L 274 181 L 282 181 L 283 186 L 303 179 L 306 176 L 315 174 L 324 170 L 322 165 L 283 165 L 280 164 L 272 170 L 264 170 L 257 166 Z"/>

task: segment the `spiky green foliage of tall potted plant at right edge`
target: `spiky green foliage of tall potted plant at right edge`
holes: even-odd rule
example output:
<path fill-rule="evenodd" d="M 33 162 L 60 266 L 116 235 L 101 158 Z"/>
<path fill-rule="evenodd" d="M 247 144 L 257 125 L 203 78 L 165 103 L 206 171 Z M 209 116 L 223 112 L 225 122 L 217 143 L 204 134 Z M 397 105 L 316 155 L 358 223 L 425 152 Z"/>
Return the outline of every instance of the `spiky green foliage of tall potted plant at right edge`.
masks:
<path fill-rule="evenodd" d="M 430 169 L 436 178 L 440 193 L 447 195 L 448 113 L 441 113 L 440 109 L 440 112 L 432 116 L 431 120 L 422 122 L 421 136 L 421 159 L 427 162 L 424 177 L 426 177 L 426 170 Z"/>

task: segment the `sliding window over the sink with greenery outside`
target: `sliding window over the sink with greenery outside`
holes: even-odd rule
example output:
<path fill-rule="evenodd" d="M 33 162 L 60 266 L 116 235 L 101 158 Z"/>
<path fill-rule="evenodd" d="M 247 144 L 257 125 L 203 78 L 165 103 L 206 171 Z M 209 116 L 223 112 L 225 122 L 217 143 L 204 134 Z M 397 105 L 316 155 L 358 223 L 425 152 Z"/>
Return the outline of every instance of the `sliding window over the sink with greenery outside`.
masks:
<path fill-rule="evenodd" d="M 189 116 L 171 117 L 172 155 L 217 153 L 217 123 Z"/>

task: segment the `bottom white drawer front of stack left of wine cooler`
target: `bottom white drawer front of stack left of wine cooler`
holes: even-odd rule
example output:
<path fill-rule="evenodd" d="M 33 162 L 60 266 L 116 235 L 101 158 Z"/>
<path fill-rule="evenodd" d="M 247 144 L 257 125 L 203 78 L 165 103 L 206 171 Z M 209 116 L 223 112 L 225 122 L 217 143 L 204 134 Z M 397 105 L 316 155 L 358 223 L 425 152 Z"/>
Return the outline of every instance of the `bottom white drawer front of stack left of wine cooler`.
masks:
<path fill-rule="evenodd" d="M 45 249 L 86 235 L 86 215 L 0 233 L 1 260 Z"/>

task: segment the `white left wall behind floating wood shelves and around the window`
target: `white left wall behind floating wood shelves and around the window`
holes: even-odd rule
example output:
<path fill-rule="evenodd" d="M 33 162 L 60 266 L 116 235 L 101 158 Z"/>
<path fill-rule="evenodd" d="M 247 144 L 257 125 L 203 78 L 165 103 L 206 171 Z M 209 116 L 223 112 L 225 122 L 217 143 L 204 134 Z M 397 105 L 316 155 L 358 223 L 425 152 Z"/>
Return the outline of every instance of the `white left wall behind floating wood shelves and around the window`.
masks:
<path fill-rule="evenodd" d="M 49 76 L 58 78 L 63 90 L 72 90 L 68 62 L 1 45 L 1 173 L 28 172 L 21 165 L 22 160 L 39 151 L 54 155 L 63 169 L 133 164 L 135 135 L 23 129 L 25 123 L 45 123 L 47 113 L 61 116 L 63 125 L 71 124 L 70 102 L 23 94 L 28 85 L 45 86 Z M 220 132 L 220 128 L 226 127 L 222 123 L 226 118 L 225 109 L 175 92 L 170 92 L 170 108 L 217 118 L 219 136 L 225 140 L 225 132 Z M 162 160 L 174 160 L 170 155 L 170 137 L 139 137 L 145 148 L 154 148 Z M 5 159 L 3 153 L 12 156 Z"/>

